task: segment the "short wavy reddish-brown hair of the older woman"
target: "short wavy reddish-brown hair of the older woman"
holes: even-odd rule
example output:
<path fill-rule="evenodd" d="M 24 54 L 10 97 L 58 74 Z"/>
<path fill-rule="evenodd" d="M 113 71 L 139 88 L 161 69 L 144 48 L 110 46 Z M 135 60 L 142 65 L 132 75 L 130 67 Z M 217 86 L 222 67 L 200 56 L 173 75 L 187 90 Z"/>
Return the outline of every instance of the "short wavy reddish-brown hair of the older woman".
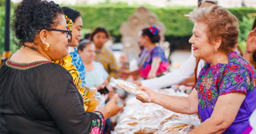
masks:
<path fill-rule="evenodd" d="M 207 25 L 207 37 L 211 44 L 221 38 L 220 50 L 232 52 L 238 44 L 239 22 L 236 16 L 223 7 L 195 8 L 189 13 L 190 20 L 194 23 L 203 22 Z"/>

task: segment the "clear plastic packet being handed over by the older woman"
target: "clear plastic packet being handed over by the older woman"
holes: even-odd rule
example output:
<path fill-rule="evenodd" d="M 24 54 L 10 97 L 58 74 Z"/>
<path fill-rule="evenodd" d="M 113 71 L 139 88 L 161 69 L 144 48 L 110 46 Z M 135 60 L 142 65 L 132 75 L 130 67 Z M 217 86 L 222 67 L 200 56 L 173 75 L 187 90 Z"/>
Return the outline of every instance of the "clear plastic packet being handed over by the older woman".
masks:
<path fill-rule="evenodd" d="M 135 95 L 136 97 L 139 97 L 140 99 L 144 99 L 145 101 L 150 102 L 148 93 L 142 92 L 142 90 L 140 90 L 138 88 L 138 86 L 136 86 L 135 84 L 133 84 L 131 82 L 125 82 L 123 80 L 116 80 L 113 77 L 110 79 L 110 82 L 113 82 L 116 85 L 116 88 L 125 90 L 126 92 L 131 93 L 131 94 Z"/>

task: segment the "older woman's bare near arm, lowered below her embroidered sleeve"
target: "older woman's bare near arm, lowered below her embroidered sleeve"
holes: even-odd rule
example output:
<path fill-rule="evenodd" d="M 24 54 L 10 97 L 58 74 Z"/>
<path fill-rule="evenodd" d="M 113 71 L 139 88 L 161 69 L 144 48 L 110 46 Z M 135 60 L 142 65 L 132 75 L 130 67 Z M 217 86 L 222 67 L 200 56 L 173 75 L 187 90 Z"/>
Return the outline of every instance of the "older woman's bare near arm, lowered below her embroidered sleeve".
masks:
<path fill-rule="evenodd" d="M 223 133 L 235 120 L 246 95 L 242 92 L 219 96 L 211 118 L 196 127 L 192 133 Z M 224 107 L 223 107 L 224 106 Z"/>

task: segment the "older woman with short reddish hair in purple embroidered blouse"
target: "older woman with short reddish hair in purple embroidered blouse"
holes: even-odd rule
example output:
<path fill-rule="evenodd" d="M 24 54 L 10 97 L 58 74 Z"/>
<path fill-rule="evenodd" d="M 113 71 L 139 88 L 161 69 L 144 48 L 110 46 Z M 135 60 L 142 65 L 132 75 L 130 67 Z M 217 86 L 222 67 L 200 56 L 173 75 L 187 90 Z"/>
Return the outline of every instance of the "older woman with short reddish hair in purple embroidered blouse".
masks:
<path fill-rule="evenodd" d="M 219 6 L 196 8 L 190 16 L 194 57 L 207 61 L 195 89 L 188 97 L 174 97 L 140 88 L 169 110 L 199 112 L 203 123 L 190 133 L 243 133 L 256 109 L 256 78 L 251 64 L 232 52 L 238 43 L 238 20 Z"/>

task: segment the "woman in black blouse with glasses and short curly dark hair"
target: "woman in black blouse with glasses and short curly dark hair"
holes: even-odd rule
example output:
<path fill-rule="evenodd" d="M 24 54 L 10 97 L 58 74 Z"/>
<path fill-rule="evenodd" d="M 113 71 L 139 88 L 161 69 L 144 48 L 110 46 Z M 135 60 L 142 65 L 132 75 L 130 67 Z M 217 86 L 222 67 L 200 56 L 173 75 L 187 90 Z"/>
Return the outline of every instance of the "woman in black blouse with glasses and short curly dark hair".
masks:
<path fill-rule="evenodd" d="M 70 31 L 59 5 L 24 0 L 14 12 L 18 46 L 0 69 L 0 133 L 102 133 L 123 107 L 85 112 L 72 76 L 51 61 L 68 55 Z"/>

